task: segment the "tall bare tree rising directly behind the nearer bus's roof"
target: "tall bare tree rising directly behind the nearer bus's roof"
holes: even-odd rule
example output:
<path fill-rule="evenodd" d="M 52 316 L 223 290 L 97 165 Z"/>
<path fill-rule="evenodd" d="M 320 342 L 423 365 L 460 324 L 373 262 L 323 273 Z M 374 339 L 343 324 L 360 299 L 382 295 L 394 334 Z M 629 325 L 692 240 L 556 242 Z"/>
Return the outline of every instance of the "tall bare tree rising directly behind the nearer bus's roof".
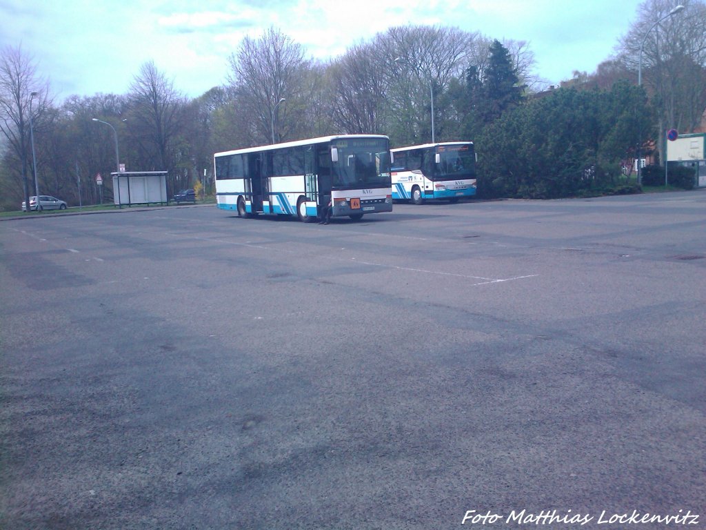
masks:
<path fill-rule="evenodd" d="M 306 75 L 311 61 L 301 45 L 270 28 L 258 40 L 245 37 L 229 57 L 229 66 L 228 81 L 237 94 L 239 112 L 256 128 L 251 143 L 297 136 L 313 90 L 311 76 Z"/>

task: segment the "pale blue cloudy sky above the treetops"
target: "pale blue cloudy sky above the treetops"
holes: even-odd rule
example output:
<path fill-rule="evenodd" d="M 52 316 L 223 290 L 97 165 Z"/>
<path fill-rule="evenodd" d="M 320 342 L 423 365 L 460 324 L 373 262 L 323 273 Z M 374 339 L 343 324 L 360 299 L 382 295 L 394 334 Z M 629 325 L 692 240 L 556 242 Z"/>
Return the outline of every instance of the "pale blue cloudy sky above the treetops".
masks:
<path fill-rule="evenodd" d="M 0 0 L 0 45 L 31 54 L 59 100 L 124 94 L 155 61 L 189 97 L 225 82 L 246 35 L 270 26 L 327 59 L 395 25 L 444 25 L 525 40 L 548 84 L 591 73 L 641 0 Z"/>

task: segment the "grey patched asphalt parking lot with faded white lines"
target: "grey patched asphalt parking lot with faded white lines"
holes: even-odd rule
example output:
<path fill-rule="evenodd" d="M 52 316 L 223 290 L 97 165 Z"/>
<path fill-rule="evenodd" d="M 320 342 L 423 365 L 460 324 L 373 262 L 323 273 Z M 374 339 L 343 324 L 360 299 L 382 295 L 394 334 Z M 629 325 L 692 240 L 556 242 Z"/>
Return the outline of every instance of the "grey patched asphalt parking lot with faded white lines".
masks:
<path fill-rule="evenodd" d="M 702 190 L 2 221 L 0 528 L 701 528 L 705 278 Z"/>

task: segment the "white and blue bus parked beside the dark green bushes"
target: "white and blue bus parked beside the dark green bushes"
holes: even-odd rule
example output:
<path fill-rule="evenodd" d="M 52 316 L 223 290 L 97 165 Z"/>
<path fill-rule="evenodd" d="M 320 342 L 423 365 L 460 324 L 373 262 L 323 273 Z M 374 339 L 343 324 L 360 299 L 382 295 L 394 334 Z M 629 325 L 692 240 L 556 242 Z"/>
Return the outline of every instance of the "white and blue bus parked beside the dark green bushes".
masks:
<path fill-rule="evenodd" d="M 426 143 L 393 149 L 393 199 L 421 204 L 476 194 L 476 154 L 473 142 Z"/>

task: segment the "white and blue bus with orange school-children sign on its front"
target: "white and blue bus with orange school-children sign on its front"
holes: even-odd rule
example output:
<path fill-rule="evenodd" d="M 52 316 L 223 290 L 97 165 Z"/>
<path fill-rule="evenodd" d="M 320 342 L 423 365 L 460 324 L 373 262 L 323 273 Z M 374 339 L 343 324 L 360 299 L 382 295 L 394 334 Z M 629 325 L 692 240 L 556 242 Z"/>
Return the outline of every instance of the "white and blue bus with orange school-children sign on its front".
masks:
<path fill-rule="evenodd" d="M 271 213 L 359 220 L 393 211 L 387 136 L 352 134 L 276 143 L 213 155 L 217 206 L 241 217 Z"/>

